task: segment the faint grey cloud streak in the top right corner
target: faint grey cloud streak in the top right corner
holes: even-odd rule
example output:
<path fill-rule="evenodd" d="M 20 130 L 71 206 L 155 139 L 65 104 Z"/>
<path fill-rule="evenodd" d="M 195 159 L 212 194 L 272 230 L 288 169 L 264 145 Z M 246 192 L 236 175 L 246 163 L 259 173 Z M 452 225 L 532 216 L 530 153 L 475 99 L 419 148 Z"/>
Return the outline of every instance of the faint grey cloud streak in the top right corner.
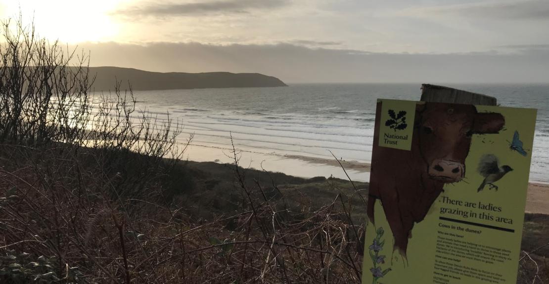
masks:
<path fill-rule="evenodd" d="M 498 1 L 489 3 L 468 3 L 457 5 L 439 5 L 402 10 L 400 15 L 407 16 L 434 16 L 457 15 L 467 18 L 492 19 L 549 19 L 549 1 Z"/>

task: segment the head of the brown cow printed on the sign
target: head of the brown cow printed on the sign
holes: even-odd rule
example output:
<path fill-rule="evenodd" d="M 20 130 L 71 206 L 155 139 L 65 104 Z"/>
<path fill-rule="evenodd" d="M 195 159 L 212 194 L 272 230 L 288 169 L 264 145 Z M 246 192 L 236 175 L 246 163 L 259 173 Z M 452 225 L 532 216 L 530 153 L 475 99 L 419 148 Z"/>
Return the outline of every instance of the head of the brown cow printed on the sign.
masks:
<path fill-rule="evenodd" d="M 430 178 L 455 183 L 465 175 L 465 158 L 473 134 L 498 133 L 505 124 L 500 113 L 478 113 L 473 105 L 418 105 L 414 136 L 428 165 Z"/>

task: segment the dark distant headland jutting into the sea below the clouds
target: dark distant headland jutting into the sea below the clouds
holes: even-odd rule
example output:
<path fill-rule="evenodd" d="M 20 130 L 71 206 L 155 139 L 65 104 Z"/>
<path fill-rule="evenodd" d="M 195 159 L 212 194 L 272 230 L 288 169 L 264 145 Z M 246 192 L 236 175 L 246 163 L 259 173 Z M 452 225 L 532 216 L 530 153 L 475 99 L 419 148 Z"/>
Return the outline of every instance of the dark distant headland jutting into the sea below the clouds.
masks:
<path fill-rule="evenodd" d="M 96 91 L 114 89 L 116 79 L 122 81 L 122 89 L 128 88 L 129 80 L 133 90 L 287 86 L 278 78 L 259 73 L 160 73 L 121 67 L 89 67 L 90 77 L 96 74 L 92 86 Z"/>

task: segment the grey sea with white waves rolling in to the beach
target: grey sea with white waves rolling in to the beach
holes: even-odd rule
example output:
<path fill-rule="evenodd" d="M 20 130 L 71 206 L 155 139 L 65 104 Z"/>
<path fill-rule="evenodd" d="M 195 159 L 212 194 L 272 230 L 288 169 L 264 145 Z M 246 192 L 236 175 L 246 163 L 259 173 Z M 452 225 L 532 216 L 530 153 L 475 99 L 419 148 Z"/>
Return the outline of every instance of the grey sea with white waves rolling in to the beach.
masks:
<path fill-rule="evenodd" d="M 530 180 L 549 182 L 549 84 L 445 84 L 495 96 L 498 105 L 537 109 Z M 378 98 L 419 100 L 421 84 L 290 84 L 289 87 L 134 91 L 137 109 L 180 120 L 185 158 L 230 162 L 301 177 L 346 178 L 335 160 L 368 163 Z M 333 154 L 333 155 L 332 155 Z M 297 157 L 297 158 L 296 158 Z M 352 178 L 367 173 L 350 170 Z"/>

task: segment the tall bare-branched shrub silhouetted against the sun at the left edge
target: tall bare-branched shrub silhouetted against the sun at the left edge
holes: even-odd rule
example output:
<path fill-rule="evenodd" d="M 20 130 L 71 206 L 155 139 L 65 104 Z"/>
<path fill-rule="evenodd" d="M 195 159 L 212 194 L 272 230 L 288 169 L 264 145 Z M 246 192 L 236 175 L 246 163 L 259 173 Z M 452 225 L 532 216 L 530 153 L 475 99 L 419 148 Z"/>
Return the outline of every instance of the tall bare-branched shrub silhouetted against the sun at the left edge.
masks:
<path fill-rule="evenodd" d="M 38 38 L 21 18 L 2 24 L 0 143 L 72 143 L 88 117 L 87 56 Z M 76 66 L 69 66 L 75 59 Z"/>

